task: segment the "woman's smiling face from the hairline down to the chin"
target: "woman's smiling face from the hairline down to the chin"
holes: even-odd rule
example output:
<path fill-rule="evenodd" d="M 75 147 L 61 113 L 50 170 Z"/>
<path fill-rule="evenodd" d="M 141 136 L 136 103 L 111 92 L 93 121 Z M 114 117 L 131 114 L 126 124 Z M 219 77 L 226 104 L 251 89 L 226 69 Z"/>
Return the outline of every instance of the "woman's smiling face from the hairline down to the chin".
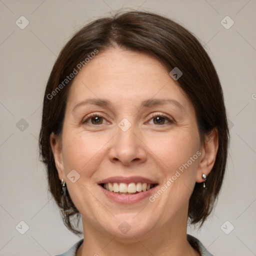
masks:
<path fill-rule="evenodd" d="M 73 80 L 52 148 L 85 229 L 138 238 L 186 227 L 204 149 L 193 105 L 155 58 L 99 51 Z"/>

